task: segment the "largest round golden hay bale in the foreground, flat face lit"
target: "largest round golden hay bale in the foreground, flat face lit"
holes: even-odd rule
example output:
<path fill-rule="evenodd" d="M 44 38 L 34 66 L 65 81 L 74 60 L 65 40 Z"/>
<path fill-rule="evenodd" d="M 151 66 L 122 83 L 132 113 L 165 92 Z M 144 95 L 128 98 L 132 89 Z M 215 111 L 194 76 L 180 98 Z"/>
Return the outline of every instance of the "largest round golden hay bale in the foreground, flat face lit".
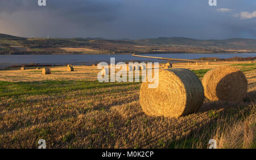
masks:
<path fill-rule="evenodd" d="M 159 71 L 158 88 L 143 82 L 139 94 L 142 110 L 147 115 L 177 118 L 199 110 L 204 101 L 204 88 L 190 70 L 172 68 Z"/>

